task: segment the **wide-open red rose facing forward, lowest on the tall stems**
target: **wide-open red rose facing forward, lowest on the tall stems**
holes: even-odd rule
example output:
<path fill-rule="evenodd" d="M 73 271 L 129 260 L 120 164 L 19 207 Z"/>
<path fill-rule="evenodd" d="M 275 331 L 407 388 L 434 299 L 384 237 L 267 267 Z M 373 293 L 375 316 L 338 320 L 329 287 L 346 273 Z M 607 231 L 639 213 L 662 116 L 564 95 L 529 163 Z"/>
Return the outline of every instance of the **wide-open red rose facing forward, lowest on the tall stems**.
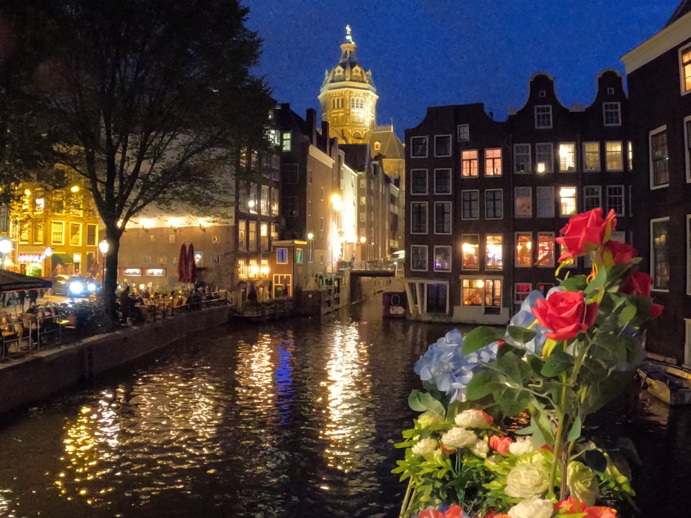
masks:
<path fill-rule="evenodd" d="M 586 309 L 583 291 L 553 291 L 548 298 L 537 302 L 533 315 L 542 327 L 551 329 L 546 336 L 553 340 L 576 338 L 597 316 L 598 305 L 588 304 Z"/>

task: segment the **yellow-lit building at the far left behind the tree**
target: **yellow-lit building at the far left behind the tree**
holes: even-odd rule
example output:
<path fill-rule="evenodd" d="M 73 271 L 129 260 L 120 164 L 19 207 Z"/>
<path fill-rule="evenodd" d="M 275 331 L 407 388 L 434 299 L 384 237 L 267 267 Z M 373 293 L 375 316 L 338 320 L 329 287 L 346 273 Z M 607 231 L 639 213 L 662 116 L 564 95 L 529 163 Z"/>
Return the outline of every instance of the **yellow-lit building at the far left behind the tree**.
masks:
<path fill-rule="evenodd" d="M 4 208 L 12 251 L 5 269 L 50 278 L 57 274 L 96 277 L 98 219 L 93 200 L 79 184 L 64 189 L 28 182 Z"/>

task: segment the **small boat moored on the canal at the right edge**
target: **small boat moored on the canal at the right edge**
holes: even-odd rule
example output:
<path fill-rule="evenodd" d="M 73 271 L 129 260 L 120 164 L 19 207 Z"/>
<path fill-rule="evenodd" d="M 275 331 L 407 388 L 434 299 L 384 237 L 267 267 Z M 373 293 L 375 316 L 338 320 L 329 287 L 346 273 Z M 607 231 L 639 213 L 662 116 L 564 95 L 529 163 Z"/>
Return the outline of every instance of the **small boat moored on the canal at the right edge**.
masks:
<path fill-rule="evenodd" d="M 641 385 L 670 406 L 691 405 L 691 370 L 646 361 L 636 370 Z"/>

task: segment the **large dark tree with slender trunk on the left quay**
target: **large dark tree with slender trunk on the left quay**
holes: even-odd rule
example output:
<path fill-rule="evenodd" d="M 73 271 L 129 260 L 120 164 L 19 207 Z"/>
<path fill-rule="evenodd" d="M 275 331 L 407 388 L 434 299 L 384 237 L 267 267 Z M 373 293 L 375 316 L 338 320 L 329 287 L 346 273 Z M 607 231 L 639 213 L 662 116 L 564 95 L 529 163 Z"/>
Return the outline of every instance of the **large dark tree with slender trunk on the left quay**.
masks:
<path fill-rule="evenodd" d="M 218 207 L 234 138 L 271 99 L 260 40 L 236 0 L 34 0 L 43 57 L 32 93 L 51 110 L 57 160 L 86 179 L 105 226 L 106 305 L 117 251 L 150 204 Z"/>

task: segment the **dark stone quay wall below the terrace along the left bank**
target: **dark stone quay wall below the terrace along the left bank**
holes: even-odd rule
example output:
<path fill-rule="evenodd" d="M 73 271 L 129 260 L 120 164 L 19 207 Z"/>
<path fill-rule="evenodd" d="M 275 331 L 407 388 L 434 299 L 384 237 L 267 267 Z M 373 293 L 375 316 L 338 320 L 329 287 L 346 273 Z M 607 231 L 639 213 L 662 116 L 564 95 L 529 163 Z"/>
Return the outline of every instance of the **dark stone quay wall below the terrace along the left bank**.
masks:
<path fill-rule="evenodd" d="M 196 338 L 205 329 L 228 321 L 228 306 L 180 311 L 174 318 L 124 327 L 0 364 L 0 414 L 28 407 L 178 340 Z"/>

